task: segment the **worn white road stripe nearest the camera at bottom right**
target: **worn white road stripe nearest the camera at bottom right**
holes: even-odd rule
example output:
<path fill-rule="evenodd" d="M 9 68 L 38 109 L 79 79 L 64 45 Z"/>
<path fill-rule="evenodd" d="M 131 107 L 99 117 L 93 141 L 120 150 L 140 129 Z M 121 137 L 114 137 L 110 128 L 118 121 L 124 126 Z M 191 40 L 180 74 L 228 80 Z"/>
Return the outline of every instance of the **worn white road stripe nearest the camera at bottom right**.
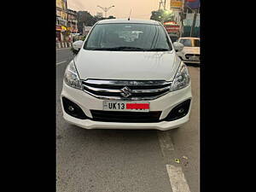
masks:
<path fill-rule="evenodd" d="M 166 165 L 166 169 L 172 185 L 172 192 L 190 192 L 182 167 Z"/>

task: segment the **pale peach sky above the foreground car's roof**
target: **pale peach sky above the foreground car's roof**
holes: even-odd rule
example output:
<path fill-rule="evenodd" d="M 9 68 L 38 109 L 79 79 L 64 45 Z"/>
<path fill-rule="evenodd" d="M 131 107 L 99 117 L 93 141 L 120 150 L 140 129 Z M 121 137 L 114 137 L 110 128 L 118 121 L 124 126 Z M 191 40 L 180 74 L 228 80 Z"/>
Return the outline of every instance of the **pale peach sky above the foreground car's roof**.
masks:
<path fill-rule="evenodd" d="M 103 8 L 108 8 L 107 17 L 113 15 L 116 18 L 128 18 L 131 11 L 131 18 L 149 20 L 151 11 L 159 8 L 160 0 L 67 0 L 67 8 L 76 11 L 88 11 L 90 15 L 96 15 L 97 12 L 105 12 L 98 8 L 97 5 Z M 170 8 L 170 0 L 166 1 L 166 8 Z"/>

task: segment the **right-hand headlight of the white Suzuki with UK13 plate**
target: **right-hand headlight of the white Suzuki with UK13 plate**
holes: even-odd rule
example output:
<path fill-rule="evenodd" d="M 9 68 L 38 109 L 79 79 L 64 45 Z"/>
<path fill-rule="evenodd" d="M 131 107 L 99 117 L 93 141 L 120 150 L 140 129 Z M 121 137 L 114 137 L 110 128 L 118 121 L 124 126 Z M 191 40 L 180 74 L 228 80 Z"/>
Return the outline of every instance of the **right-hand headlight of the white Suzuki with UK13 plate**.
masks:
<path fill-rule="evenodd" d="M 172 81 L 171 91 L 180 90 L 189 85 L 189 70 L 188 67 L 181 61 L 175 78 Z"/>

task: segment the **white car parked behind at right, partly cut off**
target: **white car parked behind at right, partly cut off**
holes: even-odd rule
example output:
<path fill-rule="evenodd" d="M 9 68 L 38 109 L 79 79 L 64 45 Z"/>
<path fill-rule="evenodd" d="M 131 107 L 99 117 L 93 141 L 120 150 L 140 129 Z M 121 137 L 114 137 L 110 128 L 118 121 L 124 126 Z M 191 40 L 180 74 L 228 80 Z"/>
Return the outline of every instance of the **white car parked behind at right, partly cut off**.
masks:
<path fill-rule="evenodd" d="M 179 38 L 177 42 L 184 45 L 177 55 L 188 63 L 200 63 L 200 38 Z"/>

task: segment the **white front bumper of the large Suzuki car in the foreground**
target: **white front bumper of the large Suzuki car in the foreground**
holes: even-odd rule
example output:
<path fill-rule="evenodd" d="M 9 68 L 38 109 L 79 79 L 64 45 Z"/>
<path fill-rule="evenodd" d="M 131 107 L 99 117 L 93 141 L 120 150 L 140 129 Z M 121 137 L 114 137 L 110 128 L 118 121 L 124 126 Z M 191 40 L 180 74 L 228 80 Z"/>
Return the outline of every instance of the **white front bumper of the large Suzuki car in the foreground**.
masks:
<path fill-rule="evenodd" d="M 176 90 L 166 94 L 165 96 L 161 96 L 160 98 L 149 101 L 150 111 L 161 111 L 162 113 L 160 115 L 160 119 L 165 119 L 168 113 L 171 112 L 172 108 L 175 108 L 181 102 L 191 99 L 189 113 L 187 113 L 183 118 L 172 121 L 160 121 L 157 123 L 117 123 L 94 121 L 92 119 L 90 110 L 102 110 L 103 100 L 98 99 L 94 96 L 90 96 L 83 90 L 73 89 L 72 87 L 69 87 L 65 82 L 63 82 L 61 98 L 63 96 L 79 105 L 79 107 L 83 110 L 84 114 L 90 119 L 77 119 L 67 114 L 63 108 L 63 103 L 61 99 L 63 118 L 67 120 L 67 122 L 69 122 L 70 124 L 78 125 L 79 127 L 85 129 L 156 129 L 165 131 L 177 128 L 189 121 L 189 113 L 192 103 L 191 84 L 189 84 L 189 86 L 183 88 L 182 90 Z"/>

